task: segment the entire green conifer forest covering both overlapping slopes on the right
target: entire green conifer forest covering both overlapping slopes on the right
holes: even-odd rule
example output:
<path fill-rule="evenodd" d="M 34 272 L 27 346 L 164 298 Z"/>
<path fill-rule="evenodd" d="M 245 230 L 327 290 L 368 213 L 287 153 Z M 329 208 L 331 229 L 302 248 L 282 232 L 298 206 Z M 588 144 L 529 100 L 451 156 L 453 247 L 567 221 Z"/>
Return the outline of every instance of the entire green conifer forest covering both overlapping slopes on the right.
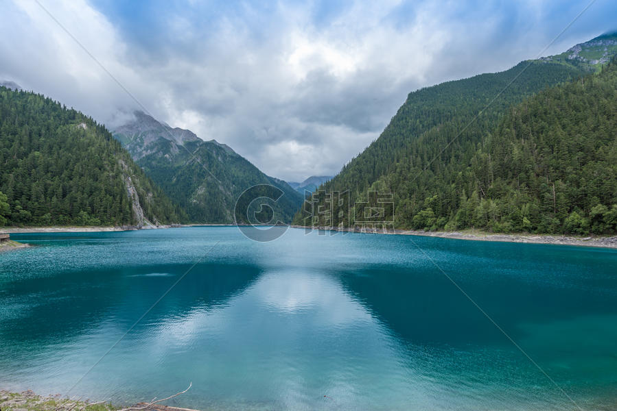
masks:
<path fill-rule="evenodd" d="M 322 188 L 350 190 L 352 205 L 393 192 L 399 228 L 614 232 L 615 66 L 585 77 L 594 71 L 578 58 L 542 59 L 412 92 Z M 334 225 L 354 225 L 360 212 Z"/>

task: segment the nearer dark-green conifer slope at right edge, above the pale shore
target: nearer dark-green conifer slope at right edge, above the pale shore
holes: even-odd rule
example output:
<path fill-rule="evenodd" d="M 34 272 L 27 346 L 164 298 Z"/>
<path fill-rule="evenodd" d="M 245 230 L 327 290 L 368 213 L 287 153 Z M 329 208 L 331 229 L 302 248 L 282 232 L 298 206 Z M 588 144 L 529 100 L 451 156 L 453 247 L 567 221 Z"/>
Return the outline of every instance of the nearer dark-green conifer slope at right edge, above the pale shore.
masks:
<path fill-rule="evenodd" d="M 412 226 L 432 227 L 423 216 L 434 212 L 453 228 L 617 232 L 615 62 L 512 108 L 485 141 L 461 176 L 456 213 L 436 194 Z"/>

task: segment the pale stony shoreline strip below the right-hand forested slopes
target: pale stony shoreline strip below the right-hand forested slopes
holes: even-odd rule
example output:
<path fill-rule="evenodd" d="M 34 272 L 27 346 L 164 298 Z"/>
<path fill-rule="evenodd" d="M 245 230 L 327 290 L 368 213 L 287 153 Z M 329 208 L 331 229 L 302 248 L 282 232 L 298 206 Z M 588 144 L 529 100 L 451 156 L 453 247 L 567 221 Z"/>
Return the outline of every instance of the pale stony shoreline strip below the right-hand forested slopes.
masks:
<path fill-rule="evenodd" d="M 305 229 L 303 225 L 291 225 L 292 228 Z M 601 247 L 617 249 L 617 236 L 563 236 L 559 234 L 499 234 L 469 230 L 461 232 L 426 232 L 422 230 L 405 229 L 360 229 L 314 227 L 325 231 L 350 232 L 358 234 L 387 234 L 399 236 L 423 236 L 450 238 L 453 240 L 493 241 L 493 242 L 522 242 L 526 244 L 574 245 L 579 247 Z"/>

